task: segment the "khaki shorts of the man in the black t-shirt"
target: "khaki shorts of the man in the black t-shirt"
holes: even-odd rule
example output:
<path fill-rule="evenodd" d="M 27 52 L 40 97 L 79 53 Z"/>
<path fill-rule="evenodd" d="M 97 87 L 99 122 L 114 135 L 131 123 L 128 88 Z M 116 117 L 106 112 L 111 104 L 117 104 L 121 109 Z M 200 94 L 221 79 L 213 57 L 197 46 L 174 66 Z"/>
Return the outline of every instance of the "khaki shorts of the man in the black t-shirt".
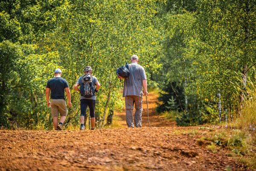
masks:
<path fill-rule="evenodd" d="M 64 99 L 52 99 L 51 113 L 52 117 L 58 117 L 58 113 L 60 113 L 61 116 L 67 116 L 66 101 Z"/>

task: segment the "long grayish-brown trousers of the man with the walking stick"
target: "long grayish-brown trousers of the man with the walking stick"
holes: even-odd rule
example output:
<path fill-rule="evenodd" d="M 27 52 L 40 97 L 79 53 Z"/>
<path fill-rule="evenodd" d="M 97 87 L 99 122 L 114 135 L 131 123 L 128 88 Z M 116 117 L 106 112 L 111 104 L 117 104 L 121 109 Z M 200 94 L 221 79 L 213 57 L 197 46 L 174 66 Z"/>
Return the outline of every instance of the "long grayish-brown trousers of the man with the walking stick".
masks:
<path fill-rule="evenodd" d="M 135 114 L 134 122 L 132 112 L 134 110 L 135 104 Z M 137 128 L 141 127 L 142 122 L 142 97 L 140 96 L 125 96 L 125 113 L 126 113 L 126 124 L 128 127 L 134 127 L 134 124 Z"/>

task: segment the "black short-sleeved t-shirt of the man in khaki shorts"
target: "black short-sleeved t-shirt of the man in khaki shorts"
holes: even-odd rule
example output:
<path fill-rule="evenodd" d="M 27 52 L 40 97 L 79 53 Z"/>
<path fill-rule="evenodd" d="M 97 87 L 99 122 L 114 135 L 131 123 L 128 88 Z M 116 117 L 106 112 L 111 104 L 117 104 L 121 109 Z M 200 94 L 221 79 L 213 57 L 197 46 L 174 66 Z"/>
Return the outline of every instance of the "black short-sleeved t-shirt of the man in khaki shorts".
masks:
<path fill-rule="evenodd" d="M 65 88 L 68 87 L 67 80 L 61 77 L 54 77 L 47 82 L 47 88 L 51 89 L 51 99 L 64 99 Z"/>

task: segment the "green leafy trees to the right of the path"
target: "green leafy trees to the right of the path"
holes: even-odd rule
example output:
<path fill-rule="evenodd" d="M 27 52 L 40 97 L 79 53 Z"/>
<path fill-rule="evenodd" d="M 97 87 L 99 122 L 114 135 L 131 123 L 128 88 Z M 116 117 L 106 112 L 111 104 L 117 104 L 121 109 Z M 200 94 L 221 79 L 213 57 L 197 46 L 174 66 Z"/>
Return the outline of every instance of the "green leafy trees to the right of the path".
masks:
<path fill-rule="evenodd" d="M 175 82 L 183 88 L 183 100 L 188 101 L 183 104 L 184 113 L 189 112 L 189 104 L 197 109 L 191 116 L 184 114 L 184 121 L 203 117 L 216 123 L 217 93 L 221 94 L 221 119 L 227 109 L 231 120 L 239 115 L 246 90 L 251 88 L 247 80 L 255 75 L 256 2 L 199 0 L 189 6 L 175 2 L 160 12 L 167 26 L 163 34 L 168 36 L 162 43 L 163 73 L 156 78 L 164 86 Z M 164 102 L 159 107 L 165 110 L 166 106 Z"/>

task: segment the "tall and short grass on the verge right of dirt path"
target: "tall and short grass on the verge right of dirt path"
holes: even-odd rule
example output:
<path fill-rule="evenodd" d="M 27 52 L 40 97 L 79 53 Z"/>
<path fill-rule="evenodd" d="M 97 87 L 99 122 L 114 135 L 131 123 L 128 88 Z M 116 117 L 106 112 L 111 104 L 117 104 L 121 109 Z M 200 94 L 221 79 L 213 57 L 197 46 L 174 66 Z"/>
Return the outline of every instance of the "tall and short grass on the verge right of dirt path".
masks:
<path fill-rule="evenodd" d="M 198 139 L 198 144 L 207 145 L 212 152 L 218 148 L 227 149 L 228 156 L 256 169 L 256 92 L 251 93 L 250 96 L 252 98 L 244 102 L 239 118 L 233 122 L 218 125 L 217 129 L 207 132 Z M 199 129 L 211 130 L 212 128 L 202 126 Z"/>

